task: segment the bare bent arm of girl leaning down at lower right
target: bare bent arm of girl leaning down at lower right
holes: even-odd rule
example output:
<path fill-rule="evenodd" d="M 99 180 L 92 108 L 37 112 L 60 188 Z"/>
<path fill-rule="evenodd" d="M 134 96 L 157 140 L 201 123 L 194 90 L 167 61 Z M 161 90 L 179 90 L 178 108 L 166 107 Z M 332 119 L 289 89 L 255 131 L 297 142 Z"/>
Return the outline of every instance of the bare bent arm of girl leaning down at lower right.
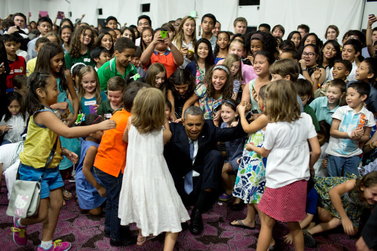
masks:
<path fill-rule="evenodd" d="M 352 221 L 347 216 L 347 213 L 344 210 L 340 196 L 346 192 L 353 190 L 355 187 L 356 180 L 348 180 L 343 184 L 337 185 L 328 192 L 332 204 L 334 205 L 336 211 L 340 215 L 340 220 L 342 221 L 344 232 L 347 235 L 355 235 L 356 230 L 353 226 Z"/>

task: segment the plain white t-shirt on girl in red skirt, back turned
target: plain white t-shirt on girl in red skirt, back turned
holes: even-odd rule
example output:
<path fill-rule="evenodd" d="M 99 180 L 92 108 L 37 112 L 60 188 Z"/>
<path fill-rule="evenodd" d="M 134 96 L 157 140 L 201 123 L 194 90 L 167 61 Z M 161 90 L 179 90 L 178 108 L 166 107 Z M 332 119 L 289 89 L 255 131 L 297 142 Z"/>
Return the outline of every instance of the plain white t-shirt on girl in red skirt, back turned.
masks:
<path fill-rule="evenodd" d="M 308 139 L 316 136 L 312 117 L 305 112 L 291 123 L 267 124 L 263 147 L 271 151 L 266 164 L 266 187 L 280 188 L 298 180 L 309 180 Z"/>

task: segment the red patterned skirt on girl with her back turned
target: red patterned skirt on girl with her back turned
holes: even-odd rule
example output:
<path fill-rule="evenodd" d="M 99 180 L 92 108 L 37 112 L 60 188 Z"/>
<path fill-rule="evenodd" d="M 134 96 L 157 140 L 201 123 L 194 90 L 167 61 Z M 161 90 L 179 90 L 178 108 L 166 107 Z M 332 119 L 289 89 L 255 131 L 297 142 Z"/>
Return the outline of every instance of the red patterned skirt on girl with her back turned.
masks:
<path fill-rule="evenodd" d="M 266 187 L 258 208 L 275 220 L 283 222 L 304 220 L 307 185 L 308 181 L 299 180 L 280 188 Z"/>

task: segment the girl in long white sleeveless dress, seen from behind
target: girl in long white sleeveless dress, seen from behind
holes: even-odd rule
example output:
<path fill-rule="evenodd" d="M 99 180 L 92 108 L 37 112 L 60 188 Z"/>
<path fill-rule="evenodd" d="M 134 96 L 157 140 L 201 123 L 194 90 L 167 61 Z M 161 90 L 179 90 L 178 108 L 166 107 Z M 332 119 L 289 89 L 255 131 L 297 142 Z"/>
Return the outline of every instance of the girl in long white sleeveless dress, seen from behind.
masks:
<path fill-rule="evenodd" d="M 164 250 L 173 250 L 181 222 L 190 217 L 163 155 L 172 136 L 164 94 L 156 88 L 140 90 L 131 113 L 123 134 L 128 147 L 118 216 L 121 225 L 136 222 L 137 245 L 166 232 Z"/>

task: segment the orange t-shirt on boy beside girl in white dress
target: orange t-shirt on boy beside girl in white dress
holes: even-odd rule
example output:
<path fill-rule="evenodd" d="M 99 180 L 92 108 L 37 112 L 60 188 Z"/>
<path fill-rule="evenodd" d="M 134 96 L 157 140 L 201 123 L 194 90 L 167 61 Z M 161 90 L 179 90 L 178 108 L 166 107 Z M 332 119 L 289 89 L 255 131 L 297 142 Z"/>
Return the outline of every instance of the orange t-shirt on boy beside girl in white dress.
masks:
<path fill-rule="evenodd" d="M 128 144 L 123 141 L 127 121 L 131 113 L 122 109 L 110 118 L 117 122 L 115 129 L 104 131 L 100 146 L 98 147 L 94 166 L 101 171 L 118 177 L 125 171 L 126 153 Z"/>

